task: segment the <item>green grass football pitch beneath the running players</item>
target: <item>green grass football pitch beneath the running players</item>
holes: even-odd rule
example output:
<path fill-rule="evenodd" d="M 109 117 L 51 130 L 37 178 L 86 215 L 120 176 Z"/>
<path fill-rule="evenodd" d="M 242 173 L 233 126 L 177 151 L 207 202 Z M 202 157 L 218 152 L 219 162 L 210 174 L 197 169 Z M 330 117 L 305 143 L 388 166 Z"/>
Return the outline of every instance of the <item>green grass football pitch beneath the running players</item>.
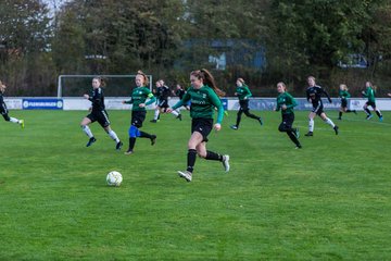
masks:
<path fill-rule="evenodd" d="M 126 141 L 130 113 L 109 112 Z M 303 149 L 277 130 L 242 120 L 239 130 L 210 135 L 207 148 L 231 157 L 197 159 L 186 169 L 188 115 L 172 115 L 143 130 L 135 153 L 114 150 L 98 123 L 98 141 L 86 148 L 79 127 L 87 112 L 12 111 L 26 128 L 0 122 L 0 260 L 388 260 L 391 257 L 391 113 L 384 122 L 364 113 L 316 119 L 304 137 L 307 112 L 297 112 Z M 119 188 L 105 175 L 123 174 Z"/>

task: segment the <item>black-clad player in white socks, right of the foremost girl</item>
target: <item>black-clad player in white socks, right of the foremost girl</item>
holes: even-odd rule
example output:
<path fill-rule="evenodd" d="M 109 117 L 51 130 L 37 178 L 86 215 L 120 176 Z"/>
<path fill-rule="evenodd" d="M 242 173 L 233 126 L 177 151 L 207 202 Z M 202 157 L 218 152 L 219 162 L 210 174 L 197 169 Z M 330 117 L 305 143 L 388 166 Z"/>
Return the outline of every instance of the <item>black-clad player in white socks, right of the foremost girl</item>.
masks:
<path fill-rule="evenodd" d="M 314 76 L 310 76 L 307 78 L 307 83 L 308 83 L 308 88 L 306 89 L 306 98 L 308 102 L 312 102 L 313 109 L 308 115 L 310 119 L 308 133 L 305 134 L 305 136 L 314 135 L 314 119 L 316 115 L 320 116 L 325 123 L 329 124 L 336 132 L 336 135 L 338 135 L 338 126 L 333 124 L 333 122 L 329 117 L 327 117 L 326 113 L 323 110 L 324 105 L 321 102 L 321 95 L 325 95 L 328 101 L 332 103 L 329 95 L 320 86 L 316 85 Z"/>

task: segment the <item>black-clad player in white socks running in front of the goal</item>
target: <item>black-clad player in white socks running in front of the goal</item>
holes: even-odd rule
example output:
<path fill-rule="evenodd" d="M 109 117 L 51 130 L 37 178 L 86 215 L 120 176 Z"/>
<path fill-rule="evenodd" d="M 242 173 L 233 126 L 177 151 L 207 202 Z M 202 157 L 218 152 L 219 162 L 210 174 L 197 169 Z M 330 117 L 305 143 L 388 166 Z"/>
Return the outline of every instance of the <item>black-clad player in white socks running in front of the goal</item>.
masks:
<path fill-rule="evenodd" d="M 93 137 L 91 129 L 89 128 L 89 124 L 93 122 L 98 122 L 104 130 L 109 134 L 109 136 L 115 140 L 115 149 L 121 150 L 123 142 L 118 139 L 117 135 L 110 127 L 110 121 L 108 112 L 104 107 L 104 96 L 101 86 L 104 86 L 104 83 L 100 77 L 94 77 L 92 79 L 92 94 L 84 95 L 84 98 L 92 102 L 91 113 L 88 114 L 85 119 L 83 119 L 80 125 L 83 132 L 87 134 L 89 140 L 87 142 L 87 147 L 90 147 L 97 139 Z"/>

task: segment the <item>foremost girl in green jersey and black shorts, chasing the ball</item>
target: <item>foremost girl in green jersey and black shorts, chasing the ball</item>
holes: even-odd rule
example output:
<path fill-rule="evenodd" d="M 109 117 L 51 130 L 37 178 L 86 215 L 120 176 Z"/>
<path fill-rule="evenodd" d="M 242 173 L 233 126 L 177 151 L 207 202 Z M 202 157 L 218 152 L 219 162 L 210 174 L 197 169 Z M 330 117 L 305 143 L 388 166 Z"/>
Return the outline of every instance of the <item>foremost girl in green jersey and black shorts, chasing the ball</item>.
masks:
<path fill-rule="evenodd" d="M 212 128 L 216 130 L 222 128 L 224 108 L 218 97 L 225 94 L 216 87 L 212 74 L 205 69 L 191 72 L 190 83 L 191 87 L 184 98 L 166 111 L 169 113 L 191 100 L 192 121 L 191 136 L 188 141 L 187 170 L 178 171 L 179 177 L 184 177 L 187 182 L 191 182 L 197 154 L 205 160 L 219 161 L 225 171 L 229 171 L 229 156 L 206 150 L 207 135 Z M 217 108 L 217 121 L 213 125 L 215 108 Z"/>

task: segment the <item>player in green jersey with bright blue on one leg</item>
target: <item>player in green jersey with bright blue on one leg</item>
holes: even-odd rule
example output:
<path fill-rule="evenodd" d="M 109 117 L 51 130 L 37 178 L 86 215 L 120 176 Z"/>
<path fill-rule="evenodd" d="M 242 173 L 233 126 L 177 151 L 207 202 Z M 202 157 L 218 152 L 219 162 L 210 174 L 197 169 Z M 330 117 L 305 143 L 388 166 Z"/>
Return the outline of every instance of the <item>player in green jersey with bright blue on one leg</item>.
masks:
<path fill-rule="evenodd" d="M 146 120 L 147 110 L 146 107 L 152 104 L 156 101 L 156 98 L 152 95 L 148 86 L 147 75 L 138 71 L 136 75 L 136 88 L 131 92 L 130 100 L 123 101 L 126 104 L 133 104 L 131 108 L 131 122 L 129 127 L 129 148 L 125 154 L 134 153 L 134 148 L 136 145 L 136 138 L 149 138 L 151 145 L 154 145 L 156 141 L 156 135 L 150 135 L 148 133 L 141 132 L 142 122 Z M 147 99 L 149 99 L 148 102 Z"/>

